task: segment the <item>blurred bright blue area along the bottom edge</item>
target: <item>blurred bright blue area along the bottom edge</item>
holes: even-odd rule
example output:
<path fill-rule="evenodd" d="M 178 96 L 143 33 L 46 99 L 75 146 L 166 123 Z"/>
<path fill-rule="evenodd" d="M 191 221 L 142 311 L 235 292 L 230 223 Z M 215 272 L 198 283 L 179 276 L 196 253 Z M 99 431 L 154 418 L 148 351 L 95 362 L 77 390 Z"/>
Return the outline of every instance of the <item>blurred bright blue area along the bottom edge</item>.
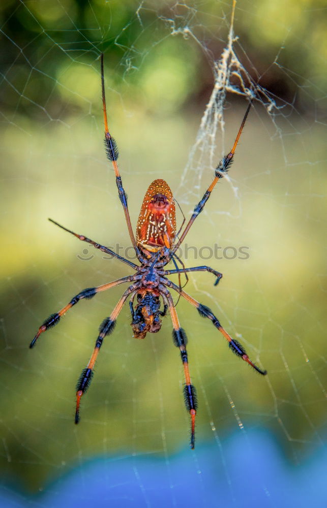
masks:
<path fill-rule="evenodd" d="M 240 431 L 214 446 L 197 443 L 195 453 L 186 449 L 168 458 L 122 455 L 92 460 L 36 496 L 3 486 L 0 506 L 323 508 L 326 455 L 320 449 L 293 466 L 271 436 Z"/>

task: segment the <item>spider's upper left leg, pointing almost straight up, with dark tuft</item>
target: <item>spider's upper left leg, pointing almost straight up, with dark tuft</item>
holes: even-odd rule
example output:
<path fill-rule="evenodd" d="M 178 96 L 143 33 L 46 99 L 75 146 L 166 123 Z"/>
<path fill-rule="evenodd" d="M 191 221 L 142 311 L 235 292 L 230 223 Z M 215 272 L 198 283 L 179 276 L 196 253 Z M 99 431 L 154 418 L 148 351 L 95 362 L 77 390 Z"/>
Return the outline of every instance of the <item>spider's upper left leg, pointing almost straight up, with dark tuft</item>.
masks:
<path fill-rule="evenodd" d="M 127 224 L 127 228 L 129 231 L 129 235 L 130 235 L 133 247 L 135 249 L 136 255 L 137 255 L 137 257 L 139 257 L 140 252 L 139 252 L 139 249 L 136 245 L 136 241 L 135 241 L 135 237 L 134 237 L 134 233 L 133 233 L 133 229 L 132 229 L 132 224 L 131 224 L 131 218 L 130 218 L 130 214 L 129 214 L 128 206 L 127 206 L 127 195 L 125 193 L 123 183 L 122 183 L 122 177 L 120 175 L 120 172 L 118 170 L 118 165 L 117 165 L 117 158 L 119 155 L 118 148 L 117 148 L 115 140 L 109 134 L 109 129 L 108 129 L 106 96 L 105 96 L 105 91 L 104 91 L 103 53 L 101 53 L 101 85 L 102 85 L 102 104 L 103 104 L 103 118 L 104 118 L 104 132 L 105 132 L 104 143 L 105 143 L 105 147 L 106 147 L 107 157 L 108 157 L 109 161 L 111 161 L 111 163 L 112 163 L 112 167 L 113 167 L 113 170 L 114 170 L 114 173 L 116 176 L 116 185 L 118 188 L 118 196 L 119 196 L 119 199 L 121 200 L 121 203 L 124 208 L 126 224 Z"/>

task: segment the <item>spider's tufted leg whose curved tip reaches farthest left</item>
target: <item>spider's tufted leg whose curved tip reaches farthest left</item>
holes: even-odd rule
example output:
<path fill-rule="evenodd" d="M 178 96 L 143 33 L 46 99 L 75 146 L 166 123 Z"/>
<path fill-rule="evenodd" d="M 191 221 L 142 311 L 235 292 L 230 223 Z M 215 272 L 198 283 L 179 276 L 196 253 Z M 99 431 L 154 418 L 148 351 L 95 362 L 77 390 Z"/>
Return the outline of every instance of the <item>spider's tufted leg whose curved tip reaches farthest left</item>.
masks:
<path fill-rule="evenodd" d="M 60 321 L 60 318 L 62 315 L 64 315 L 67 310 L 69 310 L 73 305 L 75 305 L 79 300 L 82 300 L 83 298 L 86 298 L 87 300 L 90 300 L 93 298 L 97 293 L 100 293 L 101 291 L 106 291 L 107 289 L 114 288 L 118 284 L 122 284 L 123 282 L 131 282 L 132 280 L 136 280 L 136 277 L 140 278 L 140 275 L 128 275 L 127 277 L 123 277 L 121 279 L 113 280 L 112 282 L 108 282 L 107 284 L 102 284 L 98 286 L 97 288 L 86 288 L 78 295 L 75 295 L 71 301 L 65 305 L 60 311 L 56 312 L 55 314 L 51 314 L 44 323 L 40 326 L 38 333 L 32 340 L 31 344 L 29 344 L 29 347 L 33 347 L 41 335 L 41 333 L 45 332 L 49 328 L 52 328 L 53 326 L 57 325 Z"/>

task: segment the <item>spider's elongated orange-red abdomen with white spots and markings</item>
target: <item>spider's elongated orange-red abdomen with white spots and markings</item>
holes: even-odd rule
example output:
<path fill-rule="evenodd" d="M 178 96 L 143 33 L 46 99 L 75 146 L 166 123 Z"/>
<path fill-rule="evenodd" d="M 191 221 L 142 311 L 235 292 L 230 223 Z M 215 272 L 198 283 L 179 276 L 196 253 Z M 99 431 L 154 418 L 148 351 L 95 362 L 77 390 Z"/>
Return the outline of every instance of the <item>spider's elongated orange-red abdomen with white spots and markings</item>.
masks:
<path fill-rule="evenodd" d="M 170 248 L 176 236 L 175 203 L 165 180 L 148 187 L 136 226 L 137 244 L 150 252 Z"/>

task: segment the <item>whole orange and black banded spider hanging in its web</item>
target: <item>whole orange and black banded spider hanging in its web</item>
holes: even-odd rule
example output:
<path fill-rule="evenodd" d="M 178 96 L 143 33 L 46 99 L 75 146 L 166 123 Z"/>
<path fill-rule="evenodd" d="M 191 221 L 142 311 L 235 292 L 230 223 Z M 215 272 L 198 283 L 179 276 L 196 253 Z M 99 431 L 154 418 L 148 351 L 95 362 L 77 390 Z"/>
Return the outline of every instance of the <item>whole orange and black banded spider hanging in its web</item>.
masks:
<path fill-rule="evenodd" d="M 165 270 L 164 267 L 172 260 L 175 256 L 176 250 L 184 241 L 187 233 L 189 232 L 194 220 L 202 211 L 205 203 L 209 199 L 215 185 L 218 181 L 227 173 L 235 152 L 237 143 L 239 142 L 244 124 L 249 114 L 253 99 L 251 99 L 239 132 L 237 133 L 235 142 L 230 152 L 222 158 L 215 170 L 215 178 L 205 191 L 202 199 L 195 206 L 193 214 L 185 226 L 182 234 L 176 233 L 176 216 L 175 216 L 175 204 L 172 192 L 165 180 L 154 180 L 148 187 L 141 211 L 138 217 L 136 226 L 136 236 L 134 237 L 130 214 L 127 206 L 127 196 L 122 184 L 122 178 L 117 166 L 118 149 L 115 140 L 111 137 L 108 129 L 107 111 L 106 111 L 106 100 L 105 100 L 105 89 L 104 89 L 104 72 L 103 72 L 103 54 L 101 54 L 101 84 L 102 84 L 102 103 L 103 103 L 103 116 L 104 116 L 104 130 L 105 130 L 105 148 L 107 157 L 111 161 L 113 170 L 116 177 L 116 185 L 118 188 L 118 196 L 123 205 L 125 219 L 129 235 L 136 252 L 139 265 L 132 263 L 130 260 L 119 256 L 116 252 L 101 245 L 90 238 L 74 233 L 73 231 L 65 228 L 58 224 L 56 221 L 49 219 L 53 224 L 62 228 L 63 230 L 71 233 L 79 240 L 90 243 L 95 248 L 110 254 L 114 258 L 126 263 L 133 268 L 134 273 L 127 275 L 120 279 L 102 284 L 96 288 L 87 288 L 74 296 L 72 300 L 63 307 L 60 311 L 51 314 L 44 323 L 40 326 L 37 334 L 32 340 L 30 347 L 33 347 L 41 335 L 49 328 L 56 325 L 61 316 L 63 316 L 71 307 L 73 307 L 80 300 L 93 298 L 96 294 L 106 291 L 110 288 L 115 287 L 118 284 L 130 282 L 129 287 L 123 293 L 121 299 L 118 301 L 116 306 L 113 308 L 111 314 L 105 317 L 99 328 L 99 335 L 95 343 L 95 348 L 92 353 L 91 359 L 88 362 L 85 369 L 82 370 L 80 378 L 76 386 L 76 412 L 75 412 L 75 423 L 79 422 L 79 407 L 80 401 L 87 388 L 90 386 L 93 369 L 102 345 L 103 339 L 106 335 L 113 332 L 117 316 L 121 312 L 123 305 L 126 300 L 130 298 L 130 311 L 132 315 L 131 326 L 133 329 L 134 337 L 143 339 L 147 333 L 157 333 L 161 328 L 162 317 L 164 317 L 169 309 L 170 317 L 172 321 L 173 331 L 172 338 L 173 343 L 179 348 L 181 359 L 184 367 L 185 375 L 185 386 L 184 386 L 184 398 L 186 408 L 189 411 L 191 417 L 191 441 L 190 447 L 194 448 L 194 429 L 195 429 L 195 416 L 197 409 L 197 398 L 196 390 L 194 385 L 191 383 L 191 377 L 189 373 L 188 355 L 186 350 L 187 336 L 185 330 L 181 328 L 179 318 L 177 316 L 176 308 L 173 303 L 173 299 L 169 289 L 175 291 L 179 297 L 185 298 L 191 305 L 193 305 L 199 312 L 200 316 L 207 317 L 211 320 L 213 325 L 219 330 L 220 333 L 225 337 L 228 345 L 235 355 L 239 356 L 253 367 L 257 372 L 265 375 L 266 370 L 261 370 L 255 365 L 245 352 L 244 347 L 239 341 L 233 339 L 227 331 L 222 327 L 218 317 L 212 312 L 212 310 L 196 301 L 190 295 L 185 293 L 179 285 L 174 284 L 167 278 L 167 275 L 180 274 L 187 272 L 200 272 L 207 271 L 213 273 L 216 277 L 215 285 L 218 284 L 222 277 L 222 274 L 210 266 L 195 266 L 191 268 L 177 268 L 175 264 L 174 270 Z M 180 231 L 183 228 L 185 218 Z M 178 259 L 178 258 L 177 258 Z M 187 277 L 187 275 L 186 275 Z M 169 289 L 168 289 L 169 288 Z M 162 301 L 161 301 L 162 300 Z M 163 308 L 161 305 L 163 304 Z"/>

